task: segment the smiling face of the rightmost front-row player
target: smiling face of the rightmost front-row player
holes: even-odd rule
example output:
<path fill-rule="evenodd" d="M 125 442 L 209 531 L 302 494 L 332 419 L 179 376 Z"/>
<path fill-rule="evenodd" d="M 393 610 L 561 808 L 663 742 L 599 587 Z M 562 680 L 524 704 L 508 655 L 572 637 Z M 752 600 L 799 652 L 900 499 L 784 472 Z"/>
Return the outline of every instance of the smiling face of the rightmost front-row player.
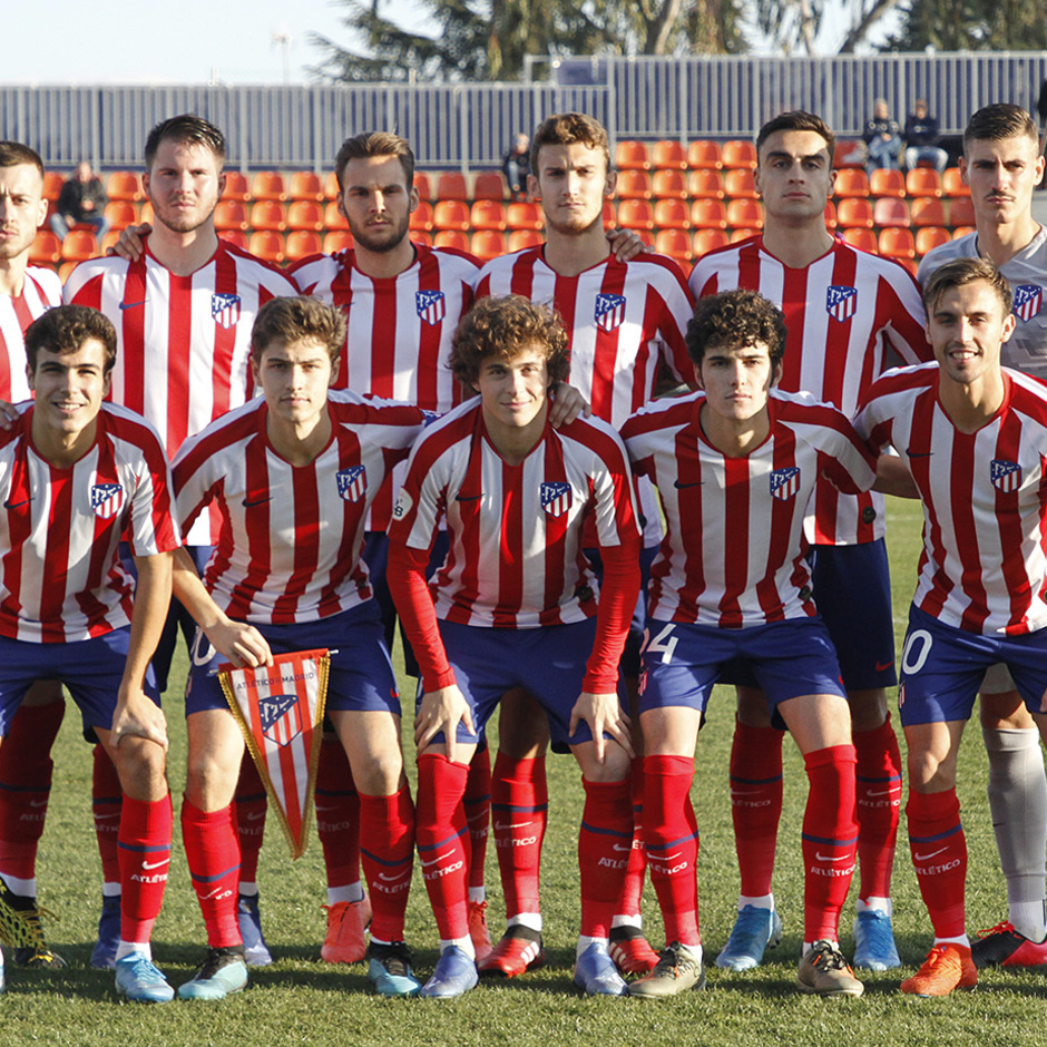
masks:
<path fill-rule="evenodd" d="M 947 287 L 927 319 L 927 340 L 945 375 L 961 385 L 995 375 L 1000 346 L 1015 330 L 1014 313 L 984 280 Z"/>

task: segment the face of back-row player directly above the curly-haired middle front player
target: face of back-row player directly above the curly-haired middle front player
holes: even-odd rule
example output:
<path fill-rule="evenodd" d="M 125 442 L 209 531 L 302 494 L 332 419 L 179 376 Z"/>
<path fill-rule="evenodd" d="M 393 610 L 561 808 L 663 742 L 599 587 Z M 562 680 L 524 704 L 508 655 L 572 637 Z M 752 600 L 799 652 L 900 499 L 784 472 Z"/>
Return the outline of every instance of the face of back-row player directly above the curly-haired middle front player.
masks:
<path fill-rule="evenodd" d="M 614 177 L 599 149 L 575 141 L 538 150 L 538 169 L 528 176 L 532 196 L 540 197 L 546 223 L 558 233 L 585 233 L 604 219 L 604 199 Z"/>

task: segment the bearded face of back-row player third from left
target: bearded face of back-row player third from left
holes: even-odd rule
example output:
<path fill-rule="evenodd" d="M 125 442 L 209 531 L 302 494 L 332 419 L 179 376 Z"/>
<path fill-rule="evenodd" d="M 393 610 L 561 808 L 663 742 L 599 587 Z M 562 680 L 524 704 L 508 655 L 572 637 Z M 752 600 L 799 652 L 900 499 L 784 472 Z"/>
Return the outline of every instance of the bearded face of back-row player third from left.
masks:
<path fill-rule="evenodd" d="M 339 211 L 353 239 L 373 252 L 398 247 L 408 235 L 418 190 L 408 185 L 398 156 L 351 159 L 342 172 Z"/>

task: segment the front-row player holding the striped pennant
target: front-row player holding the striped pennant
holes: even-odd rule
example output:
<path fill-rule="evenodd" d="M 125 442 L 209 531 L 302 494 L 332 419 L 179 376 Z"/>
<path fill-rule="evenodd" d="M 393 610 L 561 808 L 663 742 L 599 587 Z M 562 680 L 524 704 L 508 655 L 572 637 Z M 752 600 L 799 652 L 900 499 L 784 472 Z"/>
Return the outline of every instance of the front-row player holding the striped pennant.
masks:
<path fill-rule="evenodd" d="M 423 415 L 349 391 L 329 393 L 344 342 L 344 317 L 319 299 L 267 302 L 251 339 L 263 398 L 212 422 L 175 460 L 186 527 L 212 501 L 223 520 L 203 580 L 182 551 L 175 569 L 175 591 L 206 636 L 197 634 L 186 692 L 182 826 L 209 949 L 178 989 L 183 999 L 221 999 L 247 981 L 231 806 L 244 740 L 214 666 L 261 665 L 271 652 L 316 647 L 331 649 L 327 714 L 360 793 L 373 910 L 369 976 L 384 996 L 419 989 L 403 942 L 414 809 L 400 699 L 360 554 L 368 507 L 388 470 L 407 457 Z"/>

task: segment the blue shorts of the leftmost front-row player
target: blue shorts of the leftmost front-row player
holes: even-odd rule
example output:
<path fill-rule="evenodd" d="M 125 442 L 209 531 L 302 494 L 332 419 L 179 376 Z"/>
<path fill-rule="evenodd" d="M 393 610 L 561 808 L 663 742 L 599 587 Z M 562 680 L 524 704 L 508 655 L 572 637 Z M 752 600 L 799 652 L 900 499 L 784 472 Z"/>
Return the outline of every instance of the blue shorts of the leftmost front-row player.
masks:
<path fill-rule="evenodd" d="M 96 740 L 95 727 L 111 730 L 129 647 L 129 625 L 69 644 L 30 644 L 0 636 L 0 736 L 8 733 L 11 717 L 38 679 L 57 679 L 69 691 L 80 710 L 85 737 Z M 151 666 L 143 691 L 160 704 Z"/>

